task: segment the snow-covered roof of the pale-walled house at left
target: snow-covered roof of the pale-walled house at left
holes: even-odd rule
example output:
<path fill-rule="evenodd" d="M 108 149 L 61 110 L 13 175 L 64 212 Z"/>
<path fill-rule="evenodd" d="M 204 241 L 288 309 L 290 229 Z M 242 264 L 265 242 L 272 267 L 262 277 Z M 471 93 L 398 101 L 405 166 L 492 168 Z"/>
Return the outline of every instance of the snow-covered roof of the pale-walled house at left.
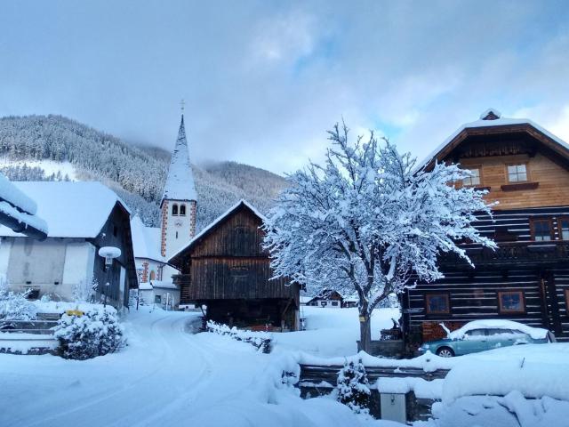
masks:
<path fill-rule="evenodd" d="M 116 203 L 124 202 L 96 181 L 28 181 L 14 182 L 37 203 L 37 215 L 44 219 L 50 238 L 95 238 L 108 220 Z M 0 226 L 2 237 L 25 237 Z"/>

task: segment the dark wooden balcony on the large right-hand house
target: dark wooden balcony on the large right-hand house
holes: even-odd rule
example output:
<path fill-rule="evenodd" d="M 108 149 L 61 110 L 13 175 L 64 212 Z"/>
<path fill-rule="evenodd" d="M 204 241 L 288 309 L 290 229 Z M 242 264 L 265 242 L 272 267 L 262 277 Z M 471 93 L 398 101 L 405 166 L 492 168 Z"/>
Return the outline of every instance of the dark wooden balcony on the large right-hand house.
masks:
<path fill-rule="evenodd" d="M 495 250 L 482 246 L 464 245 L 475 266 L 551 266 L 569 262 L 569 243 L 550 242 L 508 242 L 500 243 Z M 464 269 L 466 262 L 455 254 L 440 257 L 444 269 Z"/>

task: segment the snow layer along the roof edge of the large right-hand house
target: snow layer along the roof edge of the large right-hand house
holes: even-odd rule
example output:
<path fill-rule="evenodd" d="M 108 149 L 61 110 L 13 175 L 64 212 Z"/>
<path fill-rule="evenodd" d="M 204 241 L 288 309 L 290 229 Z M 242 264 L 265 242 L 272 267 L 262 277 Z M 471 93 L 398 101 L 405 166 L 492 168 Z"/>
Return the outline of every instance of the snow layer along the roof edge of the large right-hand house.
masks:
<path fill-rule="evenodd" d="M 563 141 L 558 136 L 550 133 L 547 129 L 537 125 L 532 120 L 528 118 L 509 118 L 501 117 L 501 112 L 497 109 L 487 109 L 484 113 L 480 115 L 480 118 L 474 122 L 466 123 L 461 125 L 456 131 L 454 131 L 442 144 L 440 144 L 437 149 L 434 149 L 429 156 L 415 167 L 415 171 L 420 170 L 422 167 L 429 165 L 429 162 L 437 157 L 437 155 L 445 149 L 447 145 L 454 141 L 454 139 L 459 136 L 466 129 L 479 128 L 479 127 L 496 127 L 496 126 L 509 126 L 509 125 L 530 125 L 540 133 L 546 135 L 550 140 L 557 142 L 557 144 L 565 149 L 569 153 L 569 144 Z"/>

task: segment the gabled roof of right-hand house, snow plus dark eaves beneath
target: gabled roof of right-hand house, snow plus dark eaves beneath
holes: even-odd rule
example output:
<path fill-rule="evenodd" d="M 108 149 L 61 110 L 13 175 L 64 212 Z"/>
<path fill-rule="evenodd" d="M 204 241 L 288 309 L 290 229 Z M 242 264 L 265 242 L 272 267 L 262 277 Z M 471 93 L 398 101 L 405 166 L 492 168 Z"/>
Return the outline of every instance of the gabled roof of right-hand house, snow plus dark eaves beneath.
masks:
<path fill-rule="evenodd" d="M 504 132 L 530 133 L 537 141 L 540 141 L 543 145 L 547 146 L 561 157 L 569 159 L 569 144 L 540 125 L 537 125 L 532 120 L 527 118 L 501 117 L 501 113 L 497 109 L 487 109 L 480 115 L 478 120 L 461 125 L 461 127 L 443 141 L 437 149 L 418 164 L 415 170 L 418 171 L 423 167 L 429 167 L 436 160 L 443 160 L 469 135 Z"/>

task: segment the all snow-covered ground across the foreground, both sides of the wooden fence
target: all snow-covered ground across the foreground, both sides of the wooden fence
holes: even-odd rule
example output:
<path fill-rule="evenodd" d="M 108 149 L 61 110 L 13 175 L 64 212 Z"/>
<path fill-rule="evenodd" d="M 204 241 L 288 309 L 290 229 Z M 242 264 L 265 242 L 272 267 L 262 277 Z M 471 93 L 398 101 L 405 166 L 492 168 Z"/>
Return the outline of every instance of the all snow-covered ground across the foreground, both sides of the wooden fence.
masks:
<path fill-rule="evenodd" d="M 307 310 L 308 309 L 308 310 Z M 299 357 L 333 360 L 356 353 L 356 310 L 304 308 L 308 331 L 274 334 L 275 350 L 218 334 L 192 334 L 196 312 L 132 311 L 129 345 L 85 361 L 0 354 L 0 426 L 377 426 L 329 398 L 302 400 L 282 384 Z M 377 310 L 373 334 L 397 310 Z M 328 359 L 331 357 L 334 359 Z M 366 364 L 393 364 L 367 357 Z M 372 384 L 441 399 L 436 419 L 418 427 L 569 426 L 569 344 L 509 347 L 460 358 L 426 354 L 406 365 L 453 368 L 445 380 Z M 513 387 L 513 388 L 512 388 Z M 524 399 L 519 391 L 535 399 Z M 483 397 L 496 393 L 506 398 Z M 478 396 L 470 396 L 476 394 Z M 565 423 L 565 424 L 564 424 Z"/>

